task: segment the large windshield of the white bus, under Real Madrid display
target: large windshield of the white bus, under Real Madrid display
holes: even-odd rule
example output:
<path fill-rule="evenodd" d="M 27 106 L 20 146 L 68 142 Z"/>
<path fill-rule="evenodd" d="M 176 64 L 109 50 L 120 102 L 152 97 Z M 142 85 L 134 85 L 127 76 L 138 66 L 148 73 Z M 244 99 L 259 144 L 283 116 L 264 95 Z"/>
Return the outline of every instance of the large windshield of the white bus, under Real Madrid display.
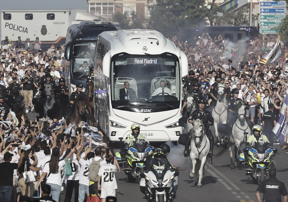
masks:
<path fill-rule="evenodd" d="M 119 54 L 111 61 L 113 108 L 179 108 L 181 79 L 177 56 Z"/>

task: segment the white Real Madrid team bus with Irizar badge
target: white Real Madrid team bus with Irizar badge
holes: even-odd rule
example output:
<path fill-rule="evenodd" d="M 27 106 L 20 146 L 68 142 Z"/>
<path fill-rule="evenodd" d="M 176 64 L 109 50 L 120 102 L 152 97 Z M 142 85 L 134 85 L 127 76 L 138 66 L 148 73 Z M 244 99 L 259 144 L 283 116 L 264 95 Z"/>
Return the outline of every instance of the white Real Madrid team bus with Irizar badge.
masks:
<path fill-rule="evenodd" d="M 188 74 L 188 61 L 172 41 L 155 30 L 104 31 L 94 64 L 95 120 L 111 141 L 125 138 L 133 123 L 148 141 L 178 141 L 181 78 Z M 152 96 L 161 81 L 171 94 Z M 134 91 L 128 97 L 125 82 Z"/>

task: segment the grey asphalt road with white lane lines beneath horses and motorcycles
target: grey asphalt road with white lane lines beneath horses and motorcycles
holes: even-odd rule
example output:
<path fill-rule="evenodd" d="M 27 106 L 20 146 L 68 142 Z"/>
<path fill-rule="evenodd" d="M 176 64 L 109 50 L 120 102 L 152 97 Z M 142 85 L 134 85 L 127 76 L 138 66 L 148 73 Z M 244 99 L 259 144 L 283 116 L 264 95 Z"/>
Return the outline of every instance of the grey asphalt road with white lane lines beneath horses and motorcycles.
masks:
<path fill-rule="evenodd" d="M 35 118 L 36 115 L 29 113 L 29 117 Z M 210 127 L 212 134 L 215 134 L 214 127 Z M 214 138 L 215 139 L 215 138 Z M 171 164 L 180 167 L 183 171 L 180 172 L 178 179 L 178 191 L 177 199 L 175 202 L 227 202 L 227 201 L 240 201 L 240 202 L 256 202 L 256 188 L 257 185 L 252 183 L 250 176 L 245 175 L 245 171 L 239 166 L 235 170 L 230 169 L 230 158 L 228 152 L 224 153 L 218 158 L 213 158 L 213 165 L 211 160 L 209 164 L 206 164 L 206 176 L 202 183 L 202 188 L 192 186 L 194 180 L 189 178 L 192 163 L 190 158 L 183 157 L 183 145 L 171 146 L 168 160 Z M 278 153 L 274 158 L 276 162 L 276 169 L 278 179 L 283 181 L 286 185 L 288 184 L 288 167 L 287 167 L 287 156 L 285 152 L 287 150 L 281 150 L 279 145 L 275 145 L 278 148 Z M 242 145 L 242 149 L 244 145 Z M 115 152 L 119 149 L 115 149 Z M 214 146 L 214 154 L 219 151 L 219 148 Z M 143 194 L 140 192 L 139 184 L 129 183 L 124 172 L 116 174 L 118 184 L 118 202 L 139 202 L 143 200 Z M 64 193 L 61 194 L 60 201 L 64 201 Z M 74 197 L 72 197 L 73 199 Z M 74 201 L 74 200 L 71 200 Z"/>

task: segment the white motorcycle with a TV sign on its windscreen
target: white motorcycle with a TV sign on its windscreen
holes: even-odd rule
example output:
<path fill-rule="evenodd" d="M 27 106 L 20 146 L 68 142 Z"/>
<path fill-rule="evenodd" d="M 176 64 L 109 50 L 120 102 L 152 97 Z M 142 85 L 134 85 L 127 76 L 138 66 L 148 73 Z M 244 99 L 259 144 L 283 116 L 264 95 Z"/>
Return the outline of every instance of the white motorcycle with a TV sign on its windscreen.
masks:
<path fill-rule="evenodd" d="M 174 175 L 175 170 L 165 167 L 155 167 L 143 173 L 139 185 L 146 200 L 148 202 L 172 202 L 175 199 Z"/>

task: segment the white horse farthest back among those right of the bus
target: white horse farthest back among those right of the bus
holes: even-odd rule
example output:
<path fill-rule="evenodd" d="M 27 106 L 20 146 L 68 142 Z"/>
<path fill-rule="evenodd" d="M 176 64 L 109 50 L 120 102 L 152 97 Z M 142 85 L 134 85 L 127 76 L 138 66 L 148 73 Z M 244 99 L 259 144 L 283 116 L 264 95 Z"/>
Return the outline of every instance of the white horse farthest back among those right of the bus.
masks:
<path fill-rule="evenodd" d="M 228 109 L 228 102 L 225 95 L 225 88 L 224 83 L 218 84 L 218 96 L 217 96 L 217 103 L 214 109 L 212 110 L 212 117 L 214 119 L 214 128 L 215 128 L 215 135 L 217 140 L 217 147 L 220 146 L 220 140 L 218 139 L 218 124 L 226 124 L 227 120 L 227 112 Z"/>

